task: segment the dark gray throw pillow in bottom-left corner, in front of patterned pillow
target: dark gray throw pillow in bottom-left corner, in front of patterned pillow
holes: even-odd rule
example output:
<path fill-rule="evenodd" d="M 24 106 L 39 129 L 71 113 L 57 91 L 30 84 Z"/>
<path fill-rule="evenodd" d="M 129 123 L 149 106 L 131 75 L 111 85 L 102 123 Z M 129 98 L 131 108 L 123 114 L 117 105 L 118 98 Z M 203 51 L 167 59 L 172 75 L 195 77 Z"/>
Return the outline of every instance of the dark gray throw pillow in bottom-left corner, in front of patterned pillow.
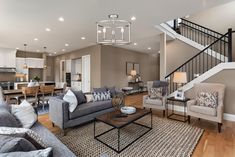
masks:
<path fill-rule="evenodd" d="M 36 150 L 34 145 L 21 137 L 10 137 L 0 135 L 0 153 L 32 151 Z"/>

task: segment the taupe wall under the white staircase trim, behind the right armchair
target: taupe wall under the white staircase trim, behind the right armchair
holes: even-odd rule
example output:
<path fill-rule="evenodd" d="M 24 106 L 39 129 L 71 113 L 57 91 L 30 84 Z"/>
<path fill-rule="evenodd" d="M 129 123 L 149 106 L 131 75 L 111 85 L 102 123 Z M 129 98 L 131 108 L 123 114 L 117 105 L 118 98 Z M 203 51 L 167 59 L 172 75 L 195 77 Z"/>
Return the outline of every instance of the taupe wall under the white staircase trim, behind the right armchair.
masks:
<path fill-rule="evenodd" d="M 229 114 L 235 114 L 234 78 L 235 78 L 235 70 L 223 70 L 204 81 L 207 83 L 222 83 L 226 86 L 224 112 Z M 186 92 L 186 96 L 192 97 L 192 95 L 193 95 L 192 89 Z"/>

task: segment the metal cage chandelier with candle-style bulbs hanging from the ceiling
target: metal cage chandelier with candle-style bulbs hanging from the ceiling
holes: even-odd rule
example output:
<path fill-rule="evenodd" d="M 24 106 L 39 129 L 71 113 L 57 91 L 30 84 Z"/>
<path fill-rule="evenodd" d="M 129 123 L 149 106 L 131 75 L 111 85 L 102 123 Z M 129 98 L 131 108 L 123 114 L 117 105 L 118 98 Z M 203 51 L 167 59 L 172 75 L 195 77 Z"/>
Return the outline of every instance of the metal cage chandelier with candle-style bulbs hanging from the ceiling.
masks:
<path fill-rule="evenodd" d="M 131 23 L 118 20 L 117 14 L 108 16 L 108 20 L 96 23 L 97 43 L 104 45 L 127 45 L 131 43 Z"/>

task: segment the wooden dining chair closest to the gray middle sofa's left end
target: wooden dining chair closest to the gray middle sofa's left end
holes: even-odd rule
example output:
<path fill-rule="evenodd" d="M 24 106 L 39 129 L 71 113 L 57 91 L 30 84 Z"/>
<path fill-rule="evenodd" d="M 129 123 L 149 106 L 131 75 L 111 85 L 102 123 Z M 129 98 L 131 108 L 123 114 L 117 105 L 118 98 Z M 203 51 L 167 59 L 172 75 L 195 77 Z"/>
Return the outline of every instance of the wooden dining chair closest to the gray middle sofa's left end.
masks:
<path fill-rule="evenodd" d="M 54 85 L 40 86 L 41 96 L 39 98 L 39 102 L 43 105 L 43 110 L 45 104 L 48 104 L 49 99 L 54 96 L 54 92 L 55 92 Z"/>

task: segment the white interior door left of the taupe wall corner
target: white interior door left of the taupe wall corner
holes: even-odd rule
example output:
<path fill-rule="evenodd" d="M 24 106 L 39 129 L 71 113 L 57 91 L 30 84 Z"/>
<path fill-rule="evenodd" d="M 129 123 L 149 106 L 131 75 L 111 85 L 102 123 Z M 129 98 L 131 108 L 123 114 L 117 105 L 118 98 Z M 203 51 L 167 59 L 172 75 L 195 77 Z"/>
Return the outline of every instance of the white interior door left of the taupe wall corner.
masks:
<path fill-rule="evenodd" d="M 91 91 L 91 59 L 90 55 L 82 56 L 82 91 Z"/>

